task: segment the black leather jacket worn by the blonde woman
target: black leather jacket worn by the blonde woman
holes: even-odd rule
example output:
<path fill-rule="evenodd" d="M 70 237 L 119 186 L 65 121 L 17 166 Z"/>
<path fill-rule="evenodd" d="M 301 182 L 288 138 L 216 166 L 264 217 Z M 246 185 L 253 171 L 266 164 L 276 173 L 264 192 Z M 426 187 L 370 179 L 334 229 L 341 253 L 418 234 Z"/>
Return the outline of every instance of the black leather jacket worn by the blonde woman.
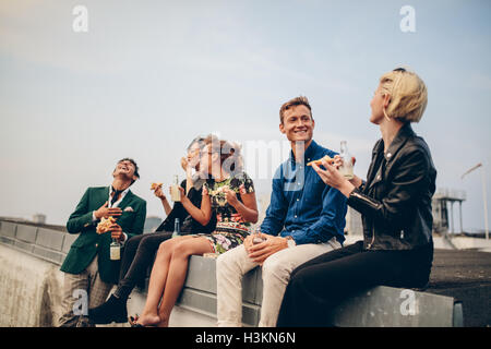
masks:
<path fill-rule="evenodd" d="M 348 197 L 362 215 L 363 248 L 412 250 L 433 245 L 431 197 L 436 170 L 422 137 L 405 124 L 387 152 L 384 141 L 373 148 L 367 182 Z"/>

